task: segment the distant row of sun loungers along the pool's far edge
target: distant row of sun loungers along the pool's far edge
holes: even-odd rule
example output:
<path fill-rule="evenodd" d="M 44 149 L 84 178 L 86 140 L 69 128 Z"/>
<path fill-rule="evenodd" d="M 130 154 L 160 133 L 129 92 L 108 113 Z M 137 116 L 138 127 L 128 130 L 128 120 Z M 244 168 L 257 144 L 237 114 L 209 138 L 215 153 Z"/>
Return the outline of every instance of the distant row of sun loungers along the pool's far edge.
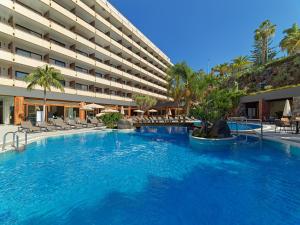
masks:
<path fill-rule="evenodd" d="M 161 117 L 161 116 L 149 116 L 149 117 L 132 117 L 132 121 L 135 124 L 186 124 L 193 123 L 195 118 L 186 116 L 176 117 Z"/>

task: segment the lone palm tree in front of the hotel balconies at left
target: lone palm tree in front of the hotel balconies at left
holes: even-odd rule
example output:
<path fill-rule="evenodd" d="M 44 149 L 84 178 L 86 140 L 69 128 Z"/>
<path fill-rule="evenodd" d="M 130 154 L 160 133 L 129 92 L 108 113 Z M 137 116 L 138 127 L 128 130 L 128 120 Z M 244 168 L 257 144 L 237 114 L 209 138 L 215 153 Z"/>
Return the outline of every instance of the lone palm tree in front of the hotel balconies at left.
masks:
<path fill-rule="evenodd" d="M 46 94 L 47 91 L 51 91 L 51 87 L 57 88 L 60 91 L 64 92 L 64 87 L 62 81 L 64 80 L 63 75 L 59 70 L 56 70 L 54 67 L 49 67 L 45 65 L 44 67 L 36 68 L 32 73 L 28 74 L 24 78 L 26 83 L 29 83 L 27 86 L 28 90 L 34 89 L 36 86 L 40 86 L 44 90 L 44 105 L 43 105 L 43 121 L 46 118 Z"/>

